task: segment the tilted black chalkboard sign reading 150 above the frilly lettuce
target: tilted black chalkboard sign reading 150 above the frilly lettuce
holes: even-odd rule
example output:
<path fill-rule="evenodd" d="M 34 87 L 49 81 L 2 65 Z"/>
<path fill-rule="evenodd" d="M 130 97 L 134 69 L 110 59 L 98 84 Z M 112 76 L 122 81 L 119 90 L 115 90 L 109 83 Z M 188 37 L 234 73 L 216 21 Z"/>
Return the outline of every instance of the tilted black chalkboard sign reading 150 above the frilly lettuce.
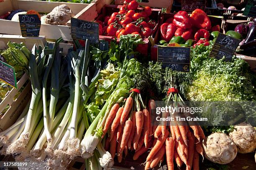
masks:
<path fill-rule="evenodd" d="M 222 59 L 225 56 L 226 61 L 231 61 L 240 42 L 241 40 L 220 33 L 212 47 L 210 57 Z"/>

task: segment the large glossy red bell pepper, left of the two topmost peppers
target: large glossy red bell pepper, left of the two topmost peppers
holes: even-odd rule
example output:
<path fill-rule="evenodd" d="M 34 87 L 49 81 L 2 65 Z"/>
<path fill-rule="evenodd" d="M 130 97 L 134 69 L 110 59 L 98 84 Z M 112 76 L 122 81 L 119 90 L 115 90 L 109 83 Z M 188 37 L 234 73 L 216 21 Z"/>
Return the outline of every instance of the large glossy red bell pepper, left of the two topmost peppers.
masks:
<path fill-rule="evenodd" d="M 179 11 L 177 14 L 175 14 L 172 23 L 176 27 L 182 28 L 184 30 L 192 27 L 186 11 Z"/>

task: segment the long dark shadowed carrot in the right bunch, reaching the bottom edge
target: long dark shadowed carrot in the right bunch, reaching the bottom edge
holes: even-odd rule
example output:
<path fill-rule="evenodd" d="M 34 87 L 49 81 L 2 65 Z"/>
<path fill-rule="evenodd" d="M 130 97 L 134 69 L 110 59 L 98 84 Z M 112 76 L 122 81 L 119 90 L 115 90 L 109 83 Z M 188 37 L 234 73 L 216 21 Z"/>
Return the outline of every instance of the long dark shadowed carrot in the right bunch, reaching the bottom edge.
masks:
<path fill-rule="evenodd" d="M 192 163 L 193 163 L 193 155 L 195 151 L 195 136 L 193 133 L 188 130 L 187 132 L 187 137 L 188 137 L 188 159 L 187 159 L 187 167 L 186 170 L 191 170 L 192 169 Z"/>

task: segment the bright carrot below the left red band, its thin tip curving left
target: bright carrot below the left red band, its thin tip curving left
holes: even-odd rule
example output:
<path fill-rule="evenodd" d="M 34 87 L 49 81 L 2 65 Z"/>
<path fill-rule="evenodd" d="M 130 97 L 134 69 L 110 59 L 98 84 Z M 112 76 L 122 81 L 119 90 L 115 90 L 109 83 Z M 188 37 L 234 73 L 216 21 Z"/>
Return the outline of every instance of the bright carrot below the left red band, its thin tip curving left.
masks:
<path fill-rule="evenodd" d="M 143 112 L 138 111 L 135 113 L 136 118 L 136 130 L 133 138 L 133 148 L 137 150 L 138 148 L 138 140 L 141 137 L 141 132 L 143 128 Z"/>

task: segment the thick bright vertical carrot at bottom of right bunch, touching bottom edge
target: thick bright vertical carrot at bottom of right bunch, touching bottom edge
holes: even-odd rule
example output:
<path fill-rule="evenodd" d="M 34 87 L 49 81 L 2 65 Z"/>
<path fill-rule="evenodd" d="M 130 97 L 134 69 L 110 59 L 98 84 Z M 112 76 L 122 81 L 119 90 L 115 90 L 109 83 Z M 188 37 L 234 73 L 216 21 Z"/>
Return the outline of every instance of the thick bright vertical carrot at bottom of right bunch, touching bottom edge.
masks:
<path fill-rule="evenodd" d="M 172 137 L 169 137 L 165 141 L 165 149 L 166 149 L 166 163 L 168 170 L 174 170 L 174 163 L 173 163 L 173 158 L 174 158 L 174 146 L 175 142 Z"/>

